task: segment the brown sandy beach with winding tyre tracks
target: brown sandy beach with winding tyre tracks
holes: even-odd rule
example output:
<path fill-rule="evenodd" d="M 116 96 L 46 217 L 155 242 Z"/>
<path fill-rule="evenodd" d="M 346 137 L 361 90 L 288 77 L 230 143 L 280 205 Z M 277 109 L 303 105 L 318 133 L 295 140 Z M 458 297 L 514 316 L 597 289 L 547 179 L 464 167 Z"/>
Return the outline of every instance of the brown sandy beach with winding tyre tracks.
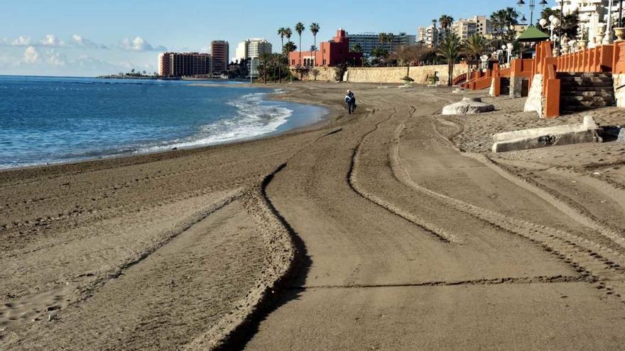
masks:
<path fill-rule="evenodd" d="M 330 116 L 1 171 L 0 349 L 623 347 L 625 144 L 494 155 L 493 133 L 583 115 L 487 98 L 496 111 L 443 117 L 486 95 L 444 87 L 280 87 Z"/>

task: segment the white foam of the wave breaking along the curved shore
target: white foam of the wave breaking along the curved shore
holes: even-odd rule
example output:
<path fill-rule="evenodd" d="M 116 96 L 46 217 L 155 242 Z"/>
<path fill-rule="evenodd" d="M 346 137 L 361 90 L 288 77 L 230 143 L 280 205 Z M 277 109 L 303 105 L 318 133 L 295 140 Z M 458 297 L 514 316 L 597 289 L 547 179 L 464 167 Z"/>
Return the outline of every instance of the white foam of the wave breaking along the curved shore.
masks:
<path fill-rule="evenodd" d="M 263 104 L 263 96 L 266 95 L 266 93 L 247 94 L 229 101 L 227 104 L 236 108 L 236 116 L 224 116 L 219 121 L 202 126 L 191 138 L 174 140 L 167 145 L 142 148 L 138 152 L 215 145 L 276 132 L 293 115 L 293 111 L 276 104 Z"/>

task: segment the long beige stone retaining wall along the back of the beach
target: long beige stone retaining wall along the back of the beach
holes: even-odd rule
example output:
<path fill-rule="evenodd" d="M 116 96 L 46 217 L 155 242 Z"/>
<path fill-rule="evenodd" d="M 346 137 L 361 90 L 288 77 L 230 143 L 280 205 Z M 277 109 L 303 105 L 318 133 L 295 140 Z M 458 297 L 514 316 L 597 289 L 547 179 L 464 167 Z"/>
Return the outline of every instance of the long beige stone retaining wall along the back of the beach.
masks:
<path fill-rule="evenodd" d="M 317 67 L 319 81 L 335 81 L 334 67 Z M 461 73 L 467 73 L 466 65 L 455 65 L 454 76 L 457 77 Z M 344 74 L 343 80 L 352 83 L 384 83 L 384 84 L 401 84 L 403 77 L 411 77 L 415 79 L 416 84 L 429 84 L 428 77 L 434 74 L 439 77 L 439 84 L 446 84 L 447 65 L 433 66 L 414 66 L 414 67 L 350 67 Z M 305 74 L 304 80 L 314 80 L 310 74 Z"/>

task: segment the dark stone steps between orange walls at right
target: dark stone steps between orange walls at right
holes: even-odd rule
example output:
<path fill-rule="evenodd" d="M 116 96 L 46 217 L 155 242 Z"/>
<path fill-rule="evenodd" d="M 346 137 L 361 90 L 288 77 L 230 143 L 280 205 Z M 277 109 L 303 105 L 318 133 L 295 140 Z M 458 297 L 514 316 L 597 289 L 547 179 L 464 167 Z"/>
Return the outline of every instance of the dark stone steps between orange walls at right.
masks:
<path fill-rule="evenodd" d="M 615 106 L 614 83 L 609 73 L 558 73 L 560 113 L 575 113 Z"/>

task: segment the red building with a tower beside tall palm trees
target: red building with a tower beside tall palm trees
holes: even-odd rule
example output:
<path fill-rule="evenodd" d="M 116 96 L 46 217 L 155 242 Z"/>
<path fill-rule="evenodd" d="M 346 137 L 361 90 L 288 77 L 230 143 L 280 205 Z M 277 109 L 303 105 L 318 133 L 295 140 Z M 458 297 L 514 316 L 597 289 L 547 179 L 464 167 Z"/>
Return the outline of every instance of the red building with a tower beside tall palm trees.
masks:
<path fill-rule="evenodd" d="M 349 38 L 343 29 L 337 30 L 337 36 L 331 41 L 319 43 L 319 50 L 301 52 L 301 60 L 299 50 L 288 55 L 291 67 L 332 67 L 349 60 L 354 60 L 354 65 L 362 65 L 362 53 L 349 52 Z"/>

